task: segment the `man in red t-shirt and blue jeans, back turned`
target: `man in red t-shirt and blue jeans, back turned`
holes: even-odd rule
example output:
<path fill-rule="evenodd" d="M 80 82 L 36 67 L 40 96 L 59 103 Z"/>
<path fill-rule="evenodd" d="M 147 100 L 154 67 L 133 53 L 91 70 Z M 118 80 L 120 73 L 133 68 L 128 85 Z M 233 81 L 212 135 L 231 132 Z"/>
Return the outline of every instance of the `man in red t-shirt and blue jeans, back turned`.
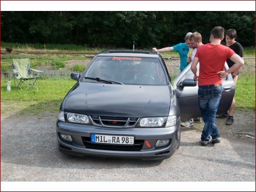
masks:
<path fill-rule="evenodd" d="M 220 98 L 222 97 L 222 78 L 232 71 L 236 71 L 244 64 L 243 60 L 229 47 L 220 42 L 224 39 L 224 28 L 215 27 L 211 31 L 210 43 L 198 47 L 191 70 L 194 80 L 198 80 L 198 101 L 204 119 L 204 129 L 201 135 L 201 145 L 207 146 L 210 142 L 220 142 L 218 129 L 215 125 L 215 116 Z M 225 62 L 230 59 L 235 64 L 223 71 Z M 196 65 L 200 62 L 199 74 Z"/>

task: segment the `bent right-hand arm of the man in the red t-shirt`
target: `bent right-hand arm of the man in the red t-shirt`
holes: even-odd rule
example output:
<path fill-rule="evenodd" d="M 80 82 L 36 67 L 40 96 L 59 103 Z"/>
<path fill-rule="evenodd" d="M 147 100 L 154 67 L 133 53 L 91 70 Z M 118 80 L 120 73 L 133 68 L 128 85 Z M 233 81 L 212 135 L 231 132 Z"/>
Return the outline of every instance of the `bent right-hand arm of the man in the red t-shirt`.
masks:
<path fill-rule="evenodd" d="M 238 54 L 232 55 L 230 57 L 230 60 L 232 62 L 234 62 L 234 65 L 226 71 L 219 71 L 217 74 L 219 74 L 220 79 L 227 77 L 226 73 L 230 74 L 230 73 L 232 73 L 232 71 L 239 71 L 241 69 L 241 67 L 243 66 L 243 64 L 245 64 L 243 59 Z"/>

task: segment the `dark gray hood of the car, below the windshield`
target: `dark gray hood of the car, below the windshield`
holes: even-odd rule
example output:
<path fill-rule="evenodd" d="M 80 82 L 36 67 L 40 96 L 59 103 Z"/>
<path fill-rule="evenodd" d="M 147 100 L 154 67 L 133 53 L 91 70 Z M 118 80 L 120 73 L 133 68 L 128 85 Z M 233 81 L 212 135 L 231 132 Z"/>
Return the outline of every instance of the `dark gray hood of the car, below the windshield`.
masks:
<path fill-rule="evenodd" d="M 168 116 L 168 86 L 79 82 L 66 96 L 64 111 L 117 117 Z"/>

